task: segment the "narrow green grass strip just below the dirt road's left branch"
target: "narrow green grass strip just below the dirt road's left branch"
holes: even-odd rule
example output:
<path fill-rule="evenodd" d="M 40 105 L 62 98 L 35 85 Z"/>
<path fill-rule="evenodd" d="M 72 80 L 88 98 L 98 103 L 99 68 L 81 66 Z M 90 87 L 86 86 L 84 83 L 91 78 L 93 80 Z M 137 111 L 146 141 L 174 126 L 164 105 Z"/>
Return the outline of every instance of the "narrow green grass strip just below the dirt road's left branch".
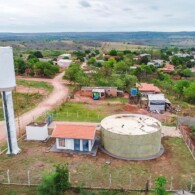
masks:
<path fill-rule="evenodd" d="M 52 85 L 43 81 L 38 82 L 38 81 L 17 80 L 17 84 L 25 87 L 43 88 L 46 89 L 48 92 L 51 92 L 53 90 Z"/>

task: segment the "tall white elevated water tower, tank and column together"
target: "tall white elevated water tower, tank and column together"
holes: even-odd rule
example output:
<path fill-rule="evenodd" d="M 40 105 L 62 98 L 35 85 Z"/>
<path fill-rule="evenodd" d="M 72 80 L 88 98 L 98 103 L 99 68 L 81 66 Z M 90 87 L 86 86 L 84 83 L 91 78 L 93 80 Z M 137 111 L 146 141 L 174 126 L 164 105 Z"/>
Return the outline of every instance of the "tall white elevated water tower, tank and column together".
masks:
<path fill-rule="evenodd" d="M 16 86 L 13 51 L 11 47 L 0 47 L 0 91 L 3 100 L 4 118 L 7 130 L 7 154 L 18 154 L 16 125 L 14 117 L 12 90 Z"/>

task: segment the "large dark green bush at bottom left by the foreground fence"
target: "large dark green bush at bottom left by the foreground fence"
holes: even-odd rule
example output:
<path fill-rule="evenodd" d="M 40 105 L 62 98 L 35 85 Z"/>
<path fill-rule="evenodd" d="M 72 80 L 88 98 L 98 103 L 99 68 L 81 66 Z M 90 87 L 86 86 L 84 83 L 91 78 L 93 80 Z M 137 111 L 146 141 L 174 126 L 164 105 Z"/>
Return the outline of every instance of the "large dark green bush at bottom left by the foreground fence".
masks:
<path fill-rule="evenodd" d="M 63 195 L 70 186 L 68 165 L 58 164 L 55 166 L 53 173 L 43 176 L 42 182 L 38 187 L 38 194 Z"/>

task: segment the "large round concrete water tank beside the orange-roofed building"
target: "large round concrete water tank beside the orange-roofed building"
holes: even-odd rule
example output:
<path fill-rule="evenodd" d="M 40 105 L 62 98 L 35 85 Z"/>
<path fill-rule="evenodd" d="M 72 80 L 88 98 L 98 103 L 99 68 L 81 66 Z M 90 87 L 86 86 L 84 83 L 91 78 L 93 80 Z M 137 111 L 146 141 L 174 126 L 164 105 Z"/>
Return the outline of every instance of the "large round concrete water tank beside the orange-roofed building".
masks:
<path fill-rule="evenodd" d="M 113 157 L 144 160 L 160 156 L 161 123 L 140 114 L 118 114 L 101 121 L 101 147 Z"/>

